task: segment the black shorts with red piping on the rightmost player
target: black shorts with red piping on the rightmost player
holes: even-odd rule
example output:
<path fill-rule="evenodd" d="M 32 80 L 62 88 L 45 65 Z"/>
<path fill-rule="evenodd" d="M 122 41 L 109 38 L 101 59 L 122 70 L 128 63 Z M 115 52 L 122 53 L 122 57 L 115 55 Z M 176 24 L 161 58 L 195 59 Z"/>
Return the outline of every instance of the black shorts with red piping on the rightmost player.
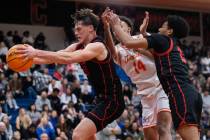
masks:
<path fill-rule="evenodd" d="M 180 86 L 169 92 L 169 102 L 175 129 L 183 125 L 194 125 L 200 128 L 202 97 L 191 86 Z"/>

